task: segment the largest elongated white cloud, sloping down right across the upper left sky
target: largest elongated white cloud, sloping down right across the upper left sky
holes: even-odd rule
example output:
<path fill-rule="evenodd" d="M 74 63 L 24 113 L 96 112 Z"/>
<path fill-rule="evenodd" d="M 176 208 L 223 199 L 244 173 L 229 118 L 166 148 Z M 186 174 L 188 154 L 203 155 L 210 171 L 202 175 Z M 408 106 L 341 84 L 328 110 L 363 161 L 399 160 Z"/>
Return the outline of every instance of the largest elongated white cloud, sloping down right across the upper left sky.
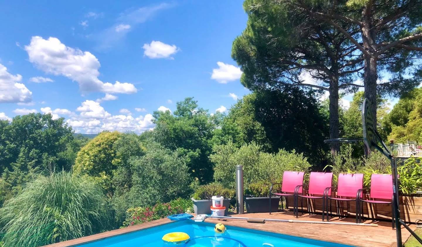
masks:
<path fill-rule="evenodd" d="M 135 93 L 133 84 L 104 83 L 98 76 L 100 62 L 90 52 L 65 46 L 59 39 L 43 39 L 33 36 L 31 43 L 25 46 L 30 62 L 46 73 L 66 76 L 78 82 L 82 92 Z"/>

